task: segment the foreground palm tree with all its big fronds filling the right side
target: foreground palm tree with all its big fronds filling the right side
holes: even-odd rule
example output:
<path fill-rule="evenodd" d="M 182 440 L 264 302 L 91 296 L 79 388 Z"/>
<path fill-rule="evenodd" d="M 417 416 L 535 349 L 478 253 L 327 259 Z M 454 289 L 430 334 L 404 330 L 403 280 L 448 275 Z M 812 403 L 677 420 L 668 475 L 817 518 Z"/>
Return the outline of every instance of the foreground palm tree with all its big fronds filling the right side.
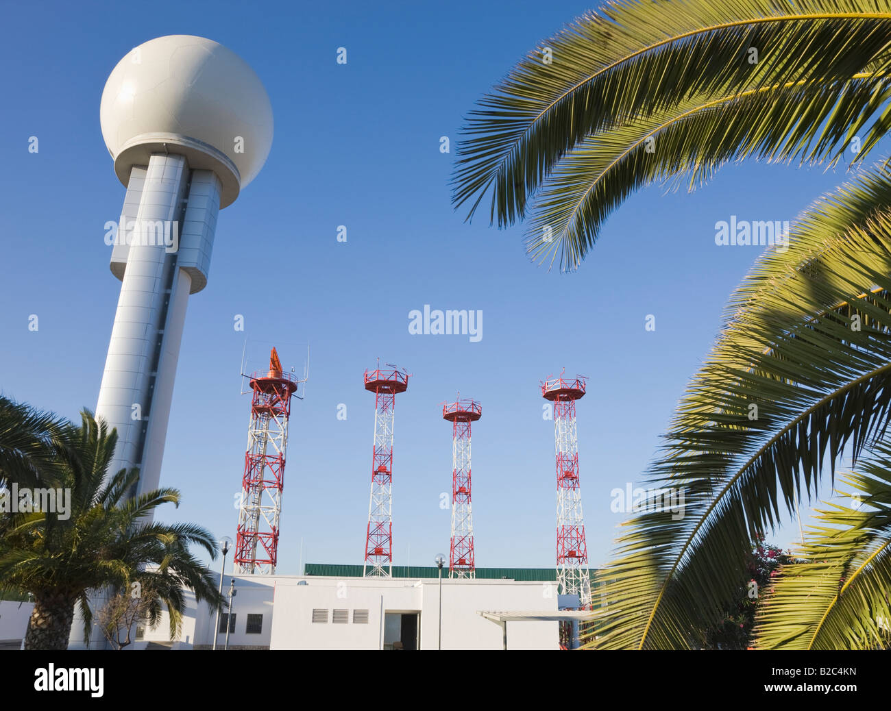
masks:
<path fill-rule="evenodd" d="M 490 219 L 528 218 L 530 254 L 559 254 L 564 269 L 580 265 L 639 187 L 700 184 L 748 157 L 835 165 L 859 143 L 860 175 L 808 208 L 788 251 L 765 253 L 732 296 L 646 472 L 654 487 L 684 488 L 685 515 L 628 521 L 601 576 L 598 647 L 699 646 L 746 582 L 749 542 L 834 481 L 842 454 L 854 464 L 881 456 L 891 420 L 891 173 L 862 161 L 891 120 L 889 61 L 885 2 L 625 0 L 543 43 L 470 114 L 455 204 L 470 202 L 470 217 L 491 191 Z M 869 554 L 878 539 L 858 532 L 835 542 L 848 568 L 827 560 L 837 582 L 862 565 L 860 579 L 878 590 L 889 562 Z M 820 534 L 814 545 L 825 545 Z M 806 570 L 784 573 L 798 587 L 777 585 L 762 643 L 779 644 L 790 626 L 805 634 L 779 595 L 816 584 Z M 846 605 L 834 609 L 848 621 L 891 619 L 887 597 L 846 595 Z M 860 630 L 818 638 L 887 639 L 878 623 Z"/>

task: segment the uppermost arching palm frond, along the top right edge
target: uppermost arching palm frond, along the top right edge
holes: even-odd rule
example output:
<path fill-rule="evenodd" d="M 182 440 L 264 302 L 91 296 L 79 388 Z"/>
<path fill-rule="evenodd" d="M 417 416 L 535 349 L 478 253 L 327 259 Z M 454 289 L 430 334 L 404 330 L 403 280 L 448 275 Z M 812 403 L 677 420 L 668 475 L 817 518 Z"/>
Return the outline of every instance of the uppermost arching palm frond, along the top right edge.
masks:
<path fill-rule="evenodd" d="M 803 141 L 838 153 L 838 146 L 830 148 L 830 139 L 838 142 L 838 127 L 845 119 L 849 126 L 844 133 L 850 135 L 850 126 L 879 107 L 884 85 L 877 78 L 891 61 L 889 42 L 891 12 L 881 0 L 609 4 L 601 14 L 585 14 L 530 52 L 470 112 L 458 145 L 454 205 L 470 202 L 470 218 L 491 192 L 490 220 L 512 225 L 526 217 L 528 201 L 560 161 L 576 150 L 584 153 L 601 135 L 608 134 L 609 141 L 610 131 L 660 112 L 682 105 L 691 110 L 691 103 L 707 108 L 722 97 L 758 95 L 770 87 L 824 86 L 830 91 L 821 97 L 818 89 L 808 101 L 773 107 L 774 119 L 783 120 L 758 128 L 761 155 L 779 156 Z M 758 53 L 754 63 L 748 61 L 751 49 Z M 878 94 L 852 92 L 843 102 L 832 101 L 833 89 L 844 94 L 844 86 L 856 77 L 873 78 Z M 759 98 L 763 105 L 764 97 Z M 700 133 L 719 135 L 726 116 L 710 112 Z M 825 131 L 824 121 L 830 125 Z M 874 126 L 873 138 L 883 126 L 887 112 Z M 666 155 L 666 160 L 673 158 Z M 701 158 L 707 170 L 719 167 L 722 159 Z M 625 173 L 631 175 L 623 184 L 634 185 L 634 165 L 626 165 Z M 636 165 L 648 174 L 646 164 Z M 563 168 L 558 182 L 568 179 L 567 171 Z M 624 199 L 618 192 L 619 200 Z M 616 199 L 609 193 L 609 200 Z M 593 216 L 615 204 L 598 205 Z M 579 244 L 593 242 L 597 223 L 594 219 Z M 584 256 L 578 247 L 568 249 L 564 266 L 577 266 Z"/>

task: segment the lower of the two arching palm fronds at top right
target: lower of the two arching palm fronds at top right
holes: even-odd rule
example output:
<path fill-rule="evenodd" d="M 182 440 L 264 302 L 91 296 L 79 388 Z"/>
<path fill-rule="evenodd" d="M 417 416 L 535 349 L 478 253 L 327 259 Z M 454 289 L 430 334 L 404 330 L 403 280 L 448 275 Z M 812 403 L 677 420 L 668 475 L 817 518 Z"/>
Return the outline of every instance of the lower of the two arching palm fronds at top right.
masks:
<path fill-rule="evenodd" d="M 704 184 L 725 163 L 747 158 L 809 164 L 841 157 L 854 135 L 857 160 L 887 132 L 891 84 L 859 75 L 844 84 L 799 82 L 695 97 L 584 138 L 554 167 L 533 201 L 527 250 L 552 265 L 579 266 L 613 210 L 652 183 Z M 876 116 L 876 114 L 879 114 Z M 827 118 L 829 117 L 829 118 Z"/>

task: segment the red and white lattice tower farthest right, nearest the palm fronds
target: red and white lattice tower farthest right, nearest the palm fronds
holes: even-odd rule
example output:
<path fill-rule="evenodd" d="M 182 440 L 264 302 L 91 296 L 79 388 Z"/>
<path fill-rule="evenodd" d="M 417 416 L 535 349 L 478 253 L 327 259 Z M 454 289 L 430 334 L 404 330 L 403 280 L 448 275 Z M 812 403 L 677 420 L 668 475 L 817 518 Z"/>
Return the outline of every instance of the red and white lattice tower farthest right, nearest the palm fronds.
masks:
<path fill-rule="evenodd" d="M 588 548 L 584 542 L 582 488 L 578 480 L 576 400 L 584 396 L 585 379 L 552 378 L 542 383 L 542 396 L 553 403 L 557 452 L 557 587 L 578 595 L 581 607 L 591 605 Z"/>

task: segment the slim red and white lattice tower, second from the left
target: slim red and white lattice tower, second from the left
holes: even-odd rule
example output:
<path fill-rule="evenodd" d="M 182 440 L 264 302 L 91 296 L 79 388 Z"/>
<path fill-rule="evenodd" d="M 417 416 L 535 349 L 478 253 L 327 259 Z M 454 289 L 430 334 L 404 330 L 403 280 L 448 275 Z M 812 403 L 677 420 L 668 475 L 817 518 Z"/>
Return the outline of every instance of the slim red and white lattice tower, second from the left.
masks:
<path fill-rule="evenodd" d="M 365 577 L 389 577 L 393 572 L 393 410 L 396 393 L 408 389 L 409 377 L 396 366 L 365 371 L 365 389 L 374 393 L 372 495 L 362 568 Z"/>

